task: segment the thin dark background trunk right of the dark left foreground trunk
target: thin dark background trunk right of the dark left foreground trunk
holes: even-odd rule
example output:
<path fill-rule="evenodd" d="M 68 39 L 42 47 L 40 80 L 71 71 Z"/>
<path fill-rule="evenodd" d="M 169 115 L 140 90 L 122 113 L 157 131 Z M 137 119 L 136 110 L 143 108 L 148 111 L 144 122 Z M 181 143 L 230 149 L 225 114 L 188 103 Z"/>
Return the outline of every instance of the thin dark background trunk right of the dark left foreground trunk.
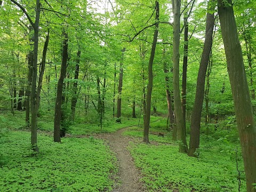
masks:
<path fill-rule="evenodd" d="M 80 56 L 81 56 L 81 51 L 77 51 L 76 55 L 76 71 L 75 71 L 75 82 L 73 84 L 73 97 L 71 99 L 71 121 L 74 122 L 75 119 L 75 110 L 76 110 L 76 102 L 77 102 L 77 79 L 78 79 L 78 74 L 79 74 L 79 62 L 80 62 Z"/>

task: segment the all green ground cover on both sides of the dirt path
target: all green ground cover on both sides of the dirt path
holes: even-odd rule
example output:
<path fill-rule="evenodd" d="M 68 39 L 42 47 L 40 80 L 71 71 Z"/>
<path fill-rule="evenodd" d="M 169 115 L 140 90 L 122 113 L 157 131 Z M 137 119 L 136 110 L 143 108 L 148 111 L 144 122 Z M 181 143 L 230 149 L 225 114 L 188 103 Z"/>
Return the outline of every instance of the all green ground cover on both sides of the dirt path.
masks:
<path fill-rule="evenodd" d="M 62 138 L 62 143 L 52 142 L 52 137 L 38 136 L 40 153 L 33 156 L 30 150 L 30 133 L 24 130 L 24 114 L 0 115 L 3 130 L 10 130 L 1 139 L 2 191 L 110 191 L 117 171 L 116 159 L 103 141 L 90 138 Z M 51 115 L 38 118 L 38 129 L 53 131 Z M 245 191 L 245 176 L 237 131 L 225 126 L 209 136 L 201 134 L 199 158 L 178 152 L 178 143 L 172 141 L 172 132 L 166 130 L 166 118 L 151 116 L 149 139 L 153 144 L 131 143 L 129 150 L 135 164 L 141 169 L 142 181 L 149 191 L 238 191 L 238 170 L 241 171 L 241 192 Z M 143 118 L 106 118 L 102 130 L 95 118 L 79 116 L 69 133 L 93 136 L 100 132 L 114 132 L 131 126 L 123 134 L 141 138 Z M 188 124 L 189 126 L 189 124 Z M 205 127 L 202 126 L 202 132 Z M 164 137 L 158 137 L 163 133 Z M 225 136 L 223 136 L 225 135 Z M 189 137 L 187 137 L 189 141 Z M 96 184 L 95 184 L 96 183 Z"/>

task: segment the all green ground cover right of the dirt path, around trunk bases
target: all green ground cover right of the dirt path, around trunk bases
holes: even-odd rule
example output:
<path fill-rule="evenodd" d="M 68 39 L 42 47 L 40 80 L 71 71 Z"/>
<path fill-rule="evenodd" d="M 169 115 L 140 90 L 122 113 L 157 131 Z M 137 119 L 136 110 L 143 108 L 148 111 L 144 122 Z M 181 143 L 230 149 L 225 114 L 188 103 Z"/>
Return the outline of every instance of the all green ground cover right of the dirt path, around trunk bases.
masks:
<path fill-rule="evenodd" d="M 150 141 L 158 145 L 131 143 L 130 151 L 135 164 L 141 169 L 142 181 L 150 191 L 238 191 L 238 170 L 241 172 L 242 186 L 246 191 L 244 167 L 235 130 L 219 130 L 211 136 L 201 135 L 199 158 L 179 153 L 178 143 L 172 141 L 164 119 L 150 124 Z M 202 127 L 204 130 L 205 127 Z M 157 133 L 164 133 L 158 137 Z M 220 133 L 219 133 L 220 132 Z M 123 134 L 141 137 L 140 127 L 131 127 Z M 221 137 L 221 135 L 226 135 Z M 187 137 L 189 143 L 189 137 Z M 162 144 L 161 144 L 162 143 Z M 238 149 L 236 158 L 236 149 Z M 236 161 L 237 159 L 237 161 Z M 236 166 L 238 163 L 238 167 Z"/>

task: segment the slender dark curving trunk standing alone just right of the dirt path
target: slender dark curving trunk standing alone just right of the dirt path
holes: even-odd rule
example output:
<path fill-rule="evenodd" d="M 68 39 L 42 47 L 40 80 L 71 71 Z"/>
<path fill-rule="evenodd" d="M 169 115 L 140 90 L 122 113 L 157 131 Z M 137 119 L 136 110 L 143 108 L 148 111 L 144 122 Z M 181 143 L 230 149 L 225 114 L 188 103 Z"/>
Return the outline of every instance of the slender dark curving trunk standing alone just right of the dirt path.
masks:
<path fill-rule="evenodd" d="M 156 20 L 159 21 L 159 3 L 156 1 Z M 146 101 L 146 114 L 144 121 L 144 130 L 143 130 L 143 142 L 149 143 L 148 133 L 149 133 L 149 122 L 150 122 L 150 109 L 151 109 L 151 93 L 153 88 L 153 61 L 155 57 L 157 35 L 158 35 L 158 23 L 155 26 L 155 33 L 153 44 L 151 48 L 150 58 L 148 62 L 148 91 L 147 91 L 147 101 Z"/>

